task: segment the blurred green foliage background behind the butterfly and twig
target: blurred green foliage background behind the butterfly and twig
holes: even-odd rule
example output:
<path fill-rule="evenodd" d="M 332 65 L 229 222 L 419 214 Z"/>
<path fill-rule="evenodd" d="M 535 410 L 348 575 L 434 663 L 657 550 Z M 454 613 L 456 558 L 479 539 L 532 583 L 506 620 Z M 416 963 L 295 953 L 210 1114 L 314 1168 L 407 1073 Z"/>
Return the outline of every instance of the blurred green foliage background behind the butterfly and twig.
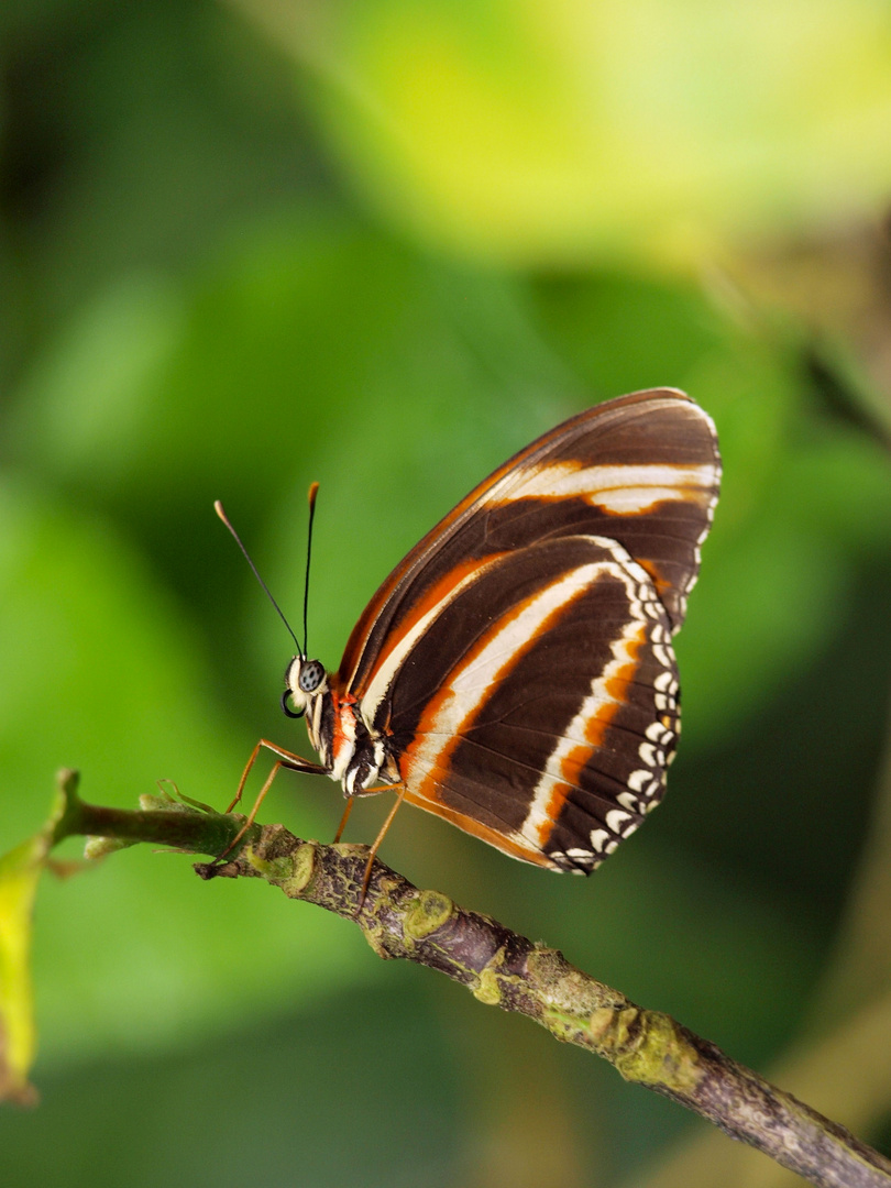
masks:
<path fill-rule="evenodd" d="M 299 619 L 321 482 L 310 649 L 336 666 L 513 450 L 683 387 L 726 475 L 665 805 L 592 880 L 407 810 L 384 858 L 759 1070 L 817 1043 L 891 797 L 891 23 L 822 0 L 802 38 L 797 7 L 2 10 L 0 849 L 63 765 L 87 800 L 171 779 L 222 805 L 257 738 L 305 747 L 215 498 Z M 328 839 L 341 808 L 283 775 L 264 817 Z M 891 988 L 876 949 L 852 1011 Z M 185 858 L 46 879 L 34 960 L 43 1104 L 0 1116 L 10 1188 L 642 1184 L 707 1130 Z M 887 1148 L 889 1118 L 838 1120 Z"/>

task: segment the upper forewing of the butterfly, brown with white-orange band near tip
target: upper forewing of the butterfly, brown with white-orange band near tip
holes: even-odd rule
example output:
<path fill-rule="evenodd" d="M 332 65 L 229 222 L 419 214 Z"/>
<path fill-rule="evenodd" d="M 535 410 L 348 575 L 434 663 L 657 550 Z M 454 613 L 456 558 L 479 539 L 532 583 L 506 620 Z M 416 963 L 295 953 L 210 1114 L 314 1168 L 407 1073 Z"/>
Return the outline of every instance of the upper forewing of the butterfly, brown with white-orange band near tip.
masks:
<path fill-rule="evenodd" d="M 636 392 L 573 417 L 505 462 L 397 565 L 349 638 L 340 687 L 364 699 L 456 584 L 560 537 L 618 541 L 650 575 L 676 631 L 719 481 L 714 425 L 682 392 Z"/>

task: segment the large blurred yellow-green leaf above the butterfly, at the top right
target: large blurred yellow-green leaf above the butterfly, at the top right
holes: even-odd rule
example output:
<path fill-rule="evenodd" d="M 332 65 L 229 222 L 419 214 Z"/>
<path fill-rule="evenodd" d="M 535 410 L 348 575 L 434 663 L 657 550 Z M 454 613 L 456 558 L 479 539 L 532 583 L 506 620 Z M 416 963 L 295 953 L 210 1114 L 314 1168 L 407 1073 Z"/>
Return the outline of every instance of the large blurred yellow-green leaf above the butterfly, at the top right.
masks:
<path fill-rule="evenodd" d="M 871 0 L 529 6 L 240 0 L 308 65 L 323 134 L 426 242 L 512 265 L 699 265 L 864 215 L 891 181 Z"/>

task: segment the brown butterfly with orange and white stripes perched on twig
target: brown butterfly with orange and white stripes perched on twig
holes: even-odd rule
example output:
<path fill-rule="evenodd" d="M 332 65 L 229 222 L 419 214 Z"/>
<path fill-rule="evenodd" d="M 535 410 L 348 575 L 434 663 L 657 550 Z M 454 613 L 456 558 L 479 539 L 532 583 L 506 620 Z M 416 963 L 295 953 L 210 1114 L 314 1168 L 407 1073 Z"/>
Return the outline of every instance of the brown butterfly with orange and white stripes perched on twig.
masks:
<path fill-rule="evenodd" d="M 336 671 L 298 644 L 283 708 L 305 714 L 318 762 L 261 739 L 239 795 L 266 747 L 260 800 L 282 766 L 329 776 L 347 797 L 337 838 L 355 798 L 396 789 L 372 855 L 405 801 L 512 858 L 590 873 L 664 790 L 671 639 L 720 474 L 712 419 L 674 388 L 544 434 L 396 567 Z"/>

